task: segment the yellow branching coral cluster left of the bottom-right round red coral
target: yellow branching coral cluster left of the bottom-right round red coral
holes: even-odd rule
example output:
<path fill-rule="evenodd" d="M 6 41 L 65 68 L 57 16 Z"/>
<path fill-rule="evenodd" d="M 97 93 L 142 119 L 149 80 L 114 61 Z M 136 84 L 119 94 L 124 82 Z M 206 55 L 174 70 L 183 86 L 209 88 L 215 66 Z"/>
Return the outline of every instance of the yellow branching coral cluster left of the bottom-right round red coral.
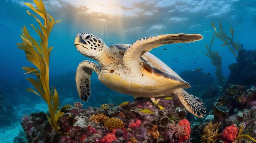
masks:
<path fill-rule="evenodd" d="M 203 135 L 201 136 L 202 143 L 214 143 L 216 139 L 218 139 L 218 130 L 220 127 L 220 123 L 212 124 L 210 123 L 204 127 Z"/>

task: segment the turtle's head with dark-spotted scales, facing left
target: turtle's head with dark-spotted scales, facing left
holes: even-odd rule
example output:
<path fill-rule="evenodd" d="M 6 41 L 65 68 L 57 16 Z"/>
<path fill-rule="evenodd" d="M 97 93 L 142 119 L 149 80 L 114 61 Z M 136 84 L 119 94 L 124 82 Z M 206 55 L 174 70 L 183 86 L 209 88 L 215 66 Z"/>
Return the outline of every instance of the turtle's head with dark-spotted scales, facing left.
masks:
<path fill-rule="evenodd" d="M 76 35 L 74 44 L 81 54 L 94 60 L 100 58 L 106 46 L 99 37 L 90 33 L 79 33 Z"/>

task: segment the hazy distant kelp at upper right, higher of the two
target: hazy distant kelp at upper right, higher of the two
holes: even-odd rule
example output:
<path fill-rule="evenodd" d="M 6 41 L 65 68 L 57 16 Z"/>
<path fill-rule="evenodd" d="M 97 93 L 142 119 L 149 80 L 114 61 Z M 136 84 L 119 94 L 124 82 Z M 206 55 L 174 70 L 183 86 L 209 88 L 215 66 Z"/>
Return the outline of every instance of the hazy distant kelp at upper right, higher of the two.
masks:
<path fill-rule="evenodd" d="M 216 30 L 215 24 L 214 22 L 211 23 L 211 26 L 213 27 L 213 29 L 215 30 L 215 33 L 213 33 L 213 35 L 216 35 L 219 39 L 221 39 L 224 43 L 221 46 L 225 46 L 227 45 L 227 47 L 229 48 L 229 52 L 232 53 L 235 57 L 237 57 L 236 53 L 240 50 L 243 49 L 243 46 L 241 46 L 239 44 L 238 39 L 236 38 L 236 41 L 234 41 L 234 29 L 230 26 L 229 27 L 229 31 L 232 37 L 227 36 L 227 32 L 223 32 L 222 30 L 222 24 L 220 22 L 220 27 L 219 30 L 220 32 L 218 32 Z"/>

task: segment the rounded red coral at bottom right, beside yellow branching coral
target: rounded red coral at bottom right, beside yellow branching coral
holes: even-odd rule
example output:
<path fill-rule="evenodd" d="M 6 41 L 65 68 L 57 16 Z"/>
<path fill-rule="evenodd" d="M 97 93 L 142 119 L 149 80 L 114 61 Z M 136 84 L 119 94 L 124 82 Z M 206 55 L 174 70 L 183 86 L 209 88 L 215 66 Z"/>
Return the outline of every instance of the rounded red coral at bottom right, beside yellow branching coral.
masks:
<path fill-rule="evenodd" d="M 238 132 L 238 128 L 233 124 L 232 126 L 226 127 L 222 132 L 220 133 L 220 139 L 224 143 L 229 143 L 234 141 L 236 139 L 236 135 Z"/>

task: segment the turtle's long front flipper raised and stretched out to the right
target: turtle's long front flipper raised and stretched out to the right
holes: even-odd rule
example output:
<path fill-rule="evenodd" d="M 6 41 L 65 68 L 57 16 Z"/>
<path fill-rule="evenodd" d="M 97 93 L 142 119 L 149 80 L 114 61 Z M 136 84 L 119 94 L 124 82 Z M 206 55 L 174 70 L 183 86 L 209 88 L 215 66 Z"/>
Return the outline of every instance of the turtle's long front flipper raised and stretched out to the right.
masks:
<path fill-rule="evenodd" d="M 203 37 L 199 34 L 166 34 L 153 37 L 145 37 L 130 45 L 124 53 L 123 63 L 126 68 L 134 69 L 138 65 L 140 56 L 164 44 L 189 43 L 199 41 Z"/>

